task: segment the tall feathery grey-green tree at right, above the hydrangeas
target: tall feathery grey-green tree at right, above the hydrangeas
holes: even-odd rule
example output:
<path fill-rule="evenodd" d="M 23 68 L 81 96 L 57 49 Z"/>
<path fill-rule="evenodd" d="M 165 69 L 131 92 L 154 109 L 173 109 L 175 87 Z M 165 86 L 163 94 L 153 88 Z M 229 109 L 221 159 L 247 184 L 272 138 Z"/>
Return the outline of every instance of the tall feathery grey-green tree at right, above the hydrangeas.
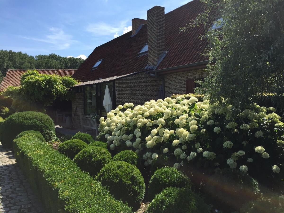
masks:
<path fill-rule="evenodd" d="M 284 106 L 284 1 L 201 0 L 205 12 L 181 30 L 204 26 L 210 45 L 208 77 L 198 92 L 211 102 L 228 103 L 239 112 L 264 94 Z M 212 19 L 212 17 L 214 19 Z M 222 17 L 219 29 L 212 20 Z M 216 62 L 215 62 L 216 61 Z M 215 63 L 212 63 L 215 62 Z"/>

